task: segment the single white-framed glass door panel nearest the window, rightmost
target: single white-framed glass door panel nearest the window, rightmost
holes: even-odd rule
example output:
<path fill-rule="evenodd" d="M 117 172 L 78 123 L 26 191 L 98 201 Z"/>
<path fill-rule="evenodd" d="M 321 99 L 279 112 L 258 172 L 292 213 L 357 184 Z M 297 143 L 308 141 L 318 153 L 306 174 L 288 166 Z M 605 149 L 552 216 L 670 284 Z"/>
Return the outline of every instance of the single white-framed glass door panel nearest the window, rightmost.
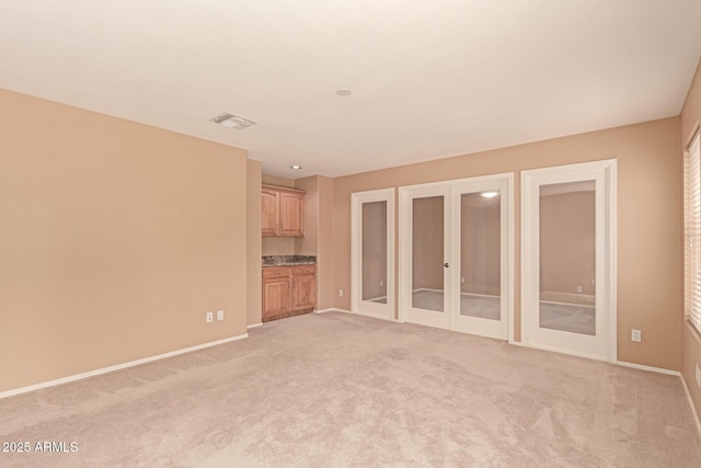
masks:
<path fill-rule="evenodd" d="M 616 161 L 521 173 L 524 344 L 616 361 Z"/>

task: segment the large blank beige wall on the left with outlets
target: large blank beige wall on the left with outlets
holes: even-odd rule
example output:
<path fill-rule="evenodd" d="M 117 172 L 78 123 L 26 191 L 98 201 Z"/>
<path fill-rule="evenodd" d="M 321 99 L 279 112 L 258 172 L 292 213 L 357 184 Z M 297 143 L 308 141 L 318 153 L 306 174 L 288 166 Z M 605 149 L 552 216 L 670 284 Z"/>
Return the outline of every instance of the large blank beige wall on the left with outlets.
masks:
<path fill-rule="evenodd" d="M 0 128 L 0 391 L 245 333 L 245 151 L 3 90 Z"/>

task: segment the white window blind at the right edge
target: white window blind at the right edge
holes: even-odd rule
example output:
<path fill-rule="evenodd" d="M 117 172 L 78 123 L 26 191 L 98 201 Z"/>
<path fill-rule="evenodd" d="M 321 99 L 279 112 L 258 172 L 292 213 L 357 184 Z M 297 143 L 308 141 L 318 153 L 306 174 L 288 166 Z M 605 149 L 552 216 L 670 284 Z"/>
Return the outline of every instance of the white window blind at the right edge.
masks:
<path fill-rule="evenodd" d="M 701 134 L 685 155 L 685 312 L 701 333 Z"/>

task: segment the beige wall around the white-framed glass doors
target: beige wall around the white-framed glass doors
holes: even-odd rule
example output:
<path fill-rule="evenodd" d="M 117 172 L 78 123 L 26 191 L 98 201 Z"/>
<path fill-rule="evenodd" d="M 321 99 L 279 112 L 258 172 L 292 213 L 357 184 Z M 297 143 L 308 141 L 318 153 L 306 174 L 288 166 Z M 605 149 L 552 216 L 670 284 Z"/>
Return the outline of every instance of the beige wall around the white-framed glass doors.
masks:
<path fill-rule="evenodd" d="M 350 193 L 515 172 L 515 326 L 520 340 L 520 171 L 618 160 L 618 356 L 679 369 L 681 159 L 679 118 L 574 135 L 334 179 L 334 290 L 350 287 Z M 395 267 L 397 269 L 397 267 Z M 395 277 L 399 277 L 395 272 Z M 350 298 L 334 297 L 349 309 Z M 630 341 L 641 329 L 642 343 Z"/>

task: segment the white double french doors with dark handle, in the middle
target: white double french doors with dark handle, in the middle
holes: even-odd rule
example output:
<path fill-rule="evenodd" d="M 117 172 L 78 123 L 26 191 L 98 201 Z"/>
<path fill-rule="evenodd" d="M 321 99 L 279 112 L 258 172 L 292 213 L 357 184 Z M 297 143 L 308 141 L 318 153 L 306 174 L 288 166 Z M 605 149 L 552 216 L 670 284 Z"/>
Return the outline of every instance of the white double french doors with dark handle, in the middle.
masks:
<path fill-rule="evenodd" d="M 400 320 L 506 340 L 512 174 L 400 189 Z"/>

